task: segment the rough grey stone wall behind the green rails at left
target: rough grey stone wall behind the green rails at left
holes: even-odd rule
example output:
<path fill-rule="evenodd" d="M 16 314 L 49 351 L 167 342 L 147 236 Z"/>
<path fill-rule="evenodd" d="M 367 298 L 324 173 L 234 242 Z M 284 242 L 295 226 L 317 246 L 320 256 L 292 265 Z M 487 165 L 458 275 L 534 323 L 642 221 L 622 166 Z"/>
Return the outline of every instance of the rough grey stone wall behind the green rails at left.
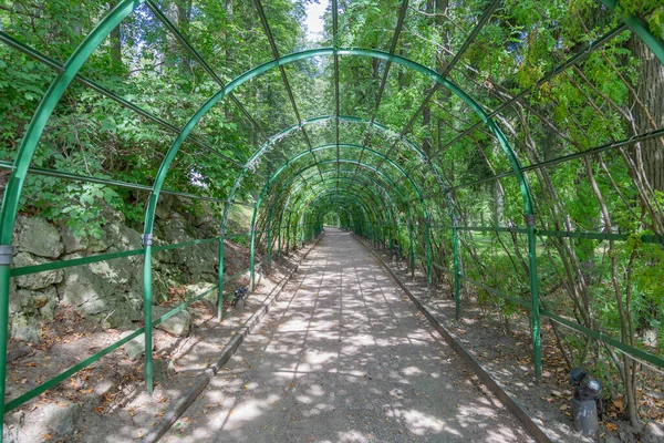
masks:
<path fill-rule="evenodd" d="M 183 203 L 166 198 L 155 223 L 154 245 L 215 237 L 218 220 L 191 216 Z M 13 244 L 13 267 L 39 265 L 129 249 L 141 249 L 141 234 L 125 224 L 121 213 L 110 208 L 102 238 L 75 238 L 62 223 L 19 216 Z M 226 272 L 246 266 L 246 257 L 230 248 Z M 154 302 L 164 302 L 175 288 L 216 282 L 218 245 L 203 244 L 153 254 Z M 102 328 L 129 329 L 143 318 L 143 256 L 20 276 L 10 284 L 10 334 L 28 342 L 40 340 L 40 324 L 53 319 L 58 309 L 70 307 Z"/>

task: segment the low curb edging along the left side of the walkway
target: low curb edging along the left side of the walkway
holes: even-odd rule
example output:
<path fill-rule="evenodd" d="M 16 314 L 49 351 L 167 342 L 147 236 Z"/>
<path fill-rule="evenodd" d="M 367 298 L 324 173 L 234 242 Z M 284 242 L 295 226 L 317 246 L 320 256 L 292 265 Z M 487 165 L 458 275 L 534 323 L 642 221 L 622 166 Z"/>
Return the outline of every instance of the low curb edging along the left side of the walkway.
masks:
<path fill-rule="evenodd" d="M 232 357 L 235 351 L 240 347 L 242 341 L 245 341 L 245 337 L 247 337 L 251 332 L 251 330 L 260 322 L 260 320 L 262 320 L 266 313 L 269 312 L 270 308 L 279 298 L 279 295 L 281 293 L 281 290 L 283 289 L 286 284 L 290 281 L 290 279 L 300 268 L 302 261 L 304 261 L 309 253 L 313 250 L 313 248 L 318 245 L 322 237 L 323 236 L 321 235 L 317 238 L 317 240 L 313 243 L 313 245 L 311 245 L 309 250 L 304 253 L 300 261 L 290 271 L 290 274 L 287 277 L 284 277 L 279 282 L 279 285 L 274 287 L 274 289 L 272 289 L 272 296 L 270 296 L 266 301 L 263 301 L 262 306 L 253 313 L 253 316 L 251 316 L 251 318 L 249 318 L 249 320 L 247 320 L 245 326 L 242 326 L 235 333 L 234 338 L 230 339 L 230 342 L 221 351 L 221 354 L 219 356 L 217 361 L 212 363 L 209 368 L 207 368 L 204 371 L 204 373 L 196 379 L 194 385 L 179 400 L 177 400 L 170 405 L 168 411 L 164 414 L 164 418 L 157 423 L 157 425 L 151 431 L 151 433 L 147 434 L 141 441 L 142 443 L 158 442 L 159 439 L 162 439 L 166 434 L 166 432 L 168 432 L 168 430 L 175 424 L 175 422 L 187 411 L 191 403 L 194 403 L 194 401 L 198 398 L 203 390 L 208 385 L 210 380 L 212 380 L 217 372 L 219 372 L 219 370 L 224 368 L 224 365 Z"/>

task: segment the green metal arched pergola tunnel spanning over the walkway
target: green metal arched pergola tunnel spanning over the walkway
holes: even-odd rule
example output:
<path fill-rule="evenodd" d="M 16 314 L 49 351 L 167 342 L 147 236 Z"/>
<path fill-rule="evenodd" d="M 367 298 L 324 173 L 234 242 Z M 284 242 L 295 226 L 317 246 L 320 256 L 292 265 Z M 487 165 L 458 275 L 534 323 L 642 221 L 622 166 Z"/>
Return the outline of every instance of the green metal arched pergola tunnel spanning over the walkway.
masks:
<path fill-rule="evenodd" d="M 483 28 L 490 22 L 497 8 L 501 4 L 500 1 L 487 1 L 485 8 L 477 14 L 473 28 L 465 33 L 465 39 L 458 45 L 457 51 L 450 54 L 445 64 L 434 68 L 427 68 L 418 61 L 397 54 L 397 44 L 408 12 L 408 1 L 402 2 L 395 17 L 396 24 L 388 50 L 344 48 L 339 37 L 339 7 L 336 1 L 332 1 L 332 47 L 309 49 L 287 55 L 279 53 L 278 44 L 270 30 L 270 20 L 263 11 L 263 6 L 258 0 L 255 3 L 273 60 L 253 66 L 235 76 L 227 84 L 221 81 L 203 55 L 197 52 L 187 37 L 164 14 L 159 6 L 149 0 L 145 2 L 141 0 L 120 1 L 90 32 L 64 65 L 59 65 L 58 62 L 20 43 L 11 35 L 0 33 L 0 39 L 6 44 L 53 68 L 58 72 L 58 76 L 42 97 L 25 131 L 21 145 L 15 152 L 13 163 L 2 164 L 2 167 L 11 171 L 11 176 L 4 190 L 0 214 L 2 224 L 0 253 L 3 259 L 0 264 L 2 265 L 0 266 L 0 321 L 2 322 L 0 328 L 2 330 L 0 337 L 0 378 L 3 380 L 0 396 L 4 398 L 7 324 L 11 278 L 46 269 L 61 269 L 142 255 L 144 259 L 143 309 L 145 320 L 145 327 L 138 329 L 132 336 L 90 357 L 27 394 L 6 402 L 6 412 L 39 395 L 85 365 L 143 333 L 145 334 L 146 350 L 145 380 L 147 391 L 152 393 L 152 330 L 154 326 L 208 295 L 208 292 L 198 295 L 175 308 L 168 315 L 153 321 L 153 253 L 166 248 L 195 247 L 196 244 L 200 243 L 217 243 L 219 246 L 217 305 L 218 317 L 221 320 L 224 317 L 224 284 L 228 282 L 228 276 L 224 275 L 224 239 L 236 235 L 246 234 L 249 236 L 249 275 L 251 285 L 253 285 L 255 271 L 259 265 L 262 262 L 269 264 L 276 255 L 288 254 L 289 250 L 297 248 L 303 241 L 314 238 L 322 231 L 323 217 L 330 212 L 338 215 L 341 227 L 352 230 L 359 236 L 370 238 L 378 248 L 394 247 L 396 244 L 400 250 L 406 251 L 404 255 L 407 257 L 406 262 L 412 276 L 415 275 L 417 267 L 422 265 L 427 286 L 432 290 L 440 290 L 435 286 L 440 280 L 437 277 L 438 272 L 449 275 L 450 290 L 456 301 L 457 318 L 463 312 L 461 286 L 464 284 L 470 284 L 478 290 L 487 291 L 521 307 L 530 317 L 532 364 L 538 381 L 542 371 L 540 356 L 541 316 L 589 338 L 600 340 L 604 346 L 612 347 L 612 349 L 627 356 L 626 358 L 664 368 L 664 360 L 660 356 L 633 346 L 627 338 L 623 337 L 619 340 L 609 337 L 602 330 L 596 330 L 593 321 L 589 319 L 585 319 L 588 321 L 584 319 L 570 319 L 544 306 L 539 293 L 543 277 L 538 274 L 538 265 L 542 259 L 542 253 L 538 251 L 538 247 L 548 248 L 550 238 L 625 241 L 631 236 L 605 230 L 579 231 L 564 227 L 543 228 L 546 223 L 542 215 L 546 213 L 544 206 L 552 204 L 543 199 L 537 200 L 536 195 L 540 193 L 539 187 L 541 185 L 533 185 L 533 183 L 537 183 L 535 174 L 540 171 L 548 171 L 553 166 L 567 165 L 577 159 L 592 158 L 592 156 L 612 150 L 662 137 L 664 128 L 654 128 L 646 133 L 621 140 L 611 140 L 606 143 L 587 146 L 587 148 L 573 152 L 563 151 L 561 155 L 536 161 L 537 158 L 533 159 L 532 156 L 515 150 L 517 141 L 513 140 L 513 131 L 510 134 L 508 128 L 505 127 L 505 119 L 511 112 L 511 105 L 522 104 L 528 95 L 533 94 L 535 91 L 547 85 L 558 75 L 572 72 L 578 63 L 588 58 L 593 51 L 623 32 L 633 32 L 637 35 L 650 48 L 652 54 L 664 63 L 664 44 L 662 40 L 653 37 L 639 17 L 629 14 L 623 17 L 624 14 L 621 16 L 621 12 L 611 12 L 616 8 L 618 2 L 603 0 L 601 2 L 603 3 L 602 11 L 606 14 L 615 14 L 615 20 L 619 22 L 616 27 L 611 28 L 600 38 L 589 39 L 587 44 L 582 45 L 570 58 L 559 61 L 548 73 L 540 75 L 530 87 L 509 94 L 507 99 L 491 110 L 483 104 L 483 97 L 475 89 L 476 85 L 474 85 L 471 79 L 461 76 L 457 71 L 464 70 L 461 64 L 466 52 L 469 48 L 474 48 L 474 44 L 479 44 L 476 39 L 481 34 Z M 87 59 L 97 50 L 107 35 L 123 20 L 134 14 L 138 8 L 146 8 L 147 11 L 151 11 L 217 84 L 216 92 L 198 106 L 181 127 L 163 121 L 159 116 L 153 115 L 80 74 Z M 298 63 L 307 63 L 312 60 L 322 60 L 328 63 L 330 69 L 333 113 L 303 116 L 299 111 L 299 103 L 289 83 L 288 69 Z M 344 115 L 341 112 L 344 95 L 342 80 L 340 79 L 340 64 L 343 61 L 355 60 L 359 63 L 374 60 L 377 63 L 383 63 L 375 109 L 367 116 Z M 381 123 L 378 117 L 381 100 L 384 93 L 390 91 L 391 70 L 408 72 L 412 75 L 428 79 L 432 83 L 424 100 L 418 101 L 416 105 L 412 106 L 413 109 L 408 109 L 411 117 L 405 125 L 401 126 L 394 122 Z M 256 152 L 249 158 L 241 161 L 221 153 L 215 145 L 206 141 L 204 121 L 210 111 L 226 102 L 231 102 L 241 110 L 250 122 L 250 126 L 259 126 L 234 95 L 234 92 L 256 79 L 268 79 L 268 81 L 274 81 L 282 85 L 289 97 L 289 106 L 292 107 L 294 123 L 273 135 L 264 134 L 262 130 L 259 131 L 259 133 L 263 133 L 264 142 L 258 144 Z M 461 79 L 468 80 L 468 87 L 461 86 L 459 82 Z M 38 168 L 32 165 L 33 155 L 38 150 L 49 119 L 74 81 L 92 87 L 120 105 L 135 111 L 142 117 L 175 133 L 174 138 L 166 142 L 167 146 L 158 173 L 149 185 L 85 177 L 66 172 Z M 427 140 L 433 130 L 419 124 L 418 119 L 436 94 L 443 94 L 442 96 L 449 103 L 447 111 L 452 115 L 449 123 L 452 135 L 437 146 L 432 146 L 429 143 L 428 148 L 425 150 L 419 146 L 423 146 L 423 141 Z M 459 122 L 464 123 L 460 127 L 458 126 Z M 184 146 L 188 143 L 204 147 L 226 167 L 237 171 L 235 183 L 228 189 L 225 198 L 199 197 L 190 193 L 165 189 L 174 161 L 178 155 L 181 155 Z M 479 181 L 465 182 L 461 166 L 464 166 L 465 154 L 475 144 L 478 144 L 478 146 L 485 144 L 488 150 L 499 153 L 499 155 L 495 155 L 497 158 L 496 164 L 505 169 L 491 171 L 489 176 Z M 479 148 L 480 152 L 484 152 L 484 146 L 479 146 Z M 14 220 L 20 209 L 21 193 L 30 174 L 148 190 L 149 199 L 145 207 L 143 248 L 124 253 L 103 254 L 83 259 L 69 259 L 48 266 L 11 268 Z M 475 187 L 481 183 L 490 182 L 499 183 L 501 187 L 507 189 L 502 192 L 502 195 L 505 195 L 505 198 L 509 198 L 511 213 L 523 216 L 522 222 L 513 219 L 510 220 L 509 226 L 498 226 L 498 224 L 478 226 L 467 219 L 468 212 L 465 207 L 475 204 L 473 197 Z M 251 229 L 249 233 L 230 233 L 228 231 L 228 218 L 231 207 L 238 204 L 247 205 L 246 202 L 238 203 L 236 198 L 245 184 L 255 186 L 257 190 L 255 202 L 249 204 L 252 208 Z M 169 247 L 154 246 L 155 212 L 163 194 L 175 194 L 193 199 L 201 198 L 212 204 L 222 205 L 219 236 Z M 540 216 L 540 226 L 538 226 L 538 216 Z M 549 225 L 547 224 L 547 226 Z M 655 246 L 663 241 L 662 235 L 664 233 L 658 230 L 661 226 L 657 227 L 656 223 L 653 223 L 653 226 L 654 233 L 641 235 L 639 237 L 640 241 L 654 244 Z M 519 270 L 521 272 L 519 277 L 526 277 L 528 281 L 520 285 L 519 290 L 515 291 L 517 293 L 506 290 L 498 284 L 491 286 L 481 281 L 486 277 L 486 269 L 483 269 L 481 264 L 474 262 L 476 257 L 471 248 L 468 248 L 468 243 L 473 241 L 473 233 L 494 233 L 497 237 L 507 234 L 512 237 L 515 249 L 522 251 L 522 269 Z M 259 250 L 264 253 L 264 259 L 260 264 L 257 261 Z M 543 255 L 546 254 L 551 254 L 551 251 L 546 249 Z M 519 268 L 519 266 L 515 265 L 515 268 Z"/>

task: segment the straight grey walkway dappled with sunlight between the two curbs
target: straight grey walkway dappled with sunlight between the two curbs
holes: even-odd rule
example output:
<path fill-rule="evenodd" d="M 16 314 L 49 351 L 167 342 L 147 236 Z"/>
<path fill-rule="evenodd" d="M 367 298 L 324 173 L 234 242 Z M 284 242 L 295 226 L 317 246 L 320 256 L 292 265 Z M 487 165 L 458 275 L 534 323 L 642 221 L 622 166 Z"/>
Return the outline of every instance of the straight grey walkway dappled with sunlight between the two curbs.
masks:
<path fill-rule="evenodd" d="M 326 229 L 166 442 L 523 442 L 350 234 Z"/>

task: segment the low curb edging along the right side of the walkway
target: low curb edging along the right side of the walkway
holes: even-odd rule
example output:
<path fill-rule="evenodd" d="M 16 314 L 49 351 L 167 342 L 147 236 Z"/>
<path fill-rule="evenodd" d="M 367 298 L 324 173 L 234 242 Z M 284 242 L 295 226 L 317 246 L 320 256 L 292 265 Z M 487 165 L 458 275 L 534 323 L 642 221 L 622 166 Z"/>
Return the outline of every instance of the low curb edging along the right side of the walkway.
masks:
<path fill-rule="evenodd" d="M 449 343 L 449 346 L 456 351 L 461 360 L 477 374 L 477 377 L 481 380 L 484 384 L 500 400 L 502 404 L 507 406 L 511 411 L 512 414 L 523 424 L 523 427 L 530 433 L 532 437 L 538 443 L 553 443 L 547 431 L 540 425 L 538 425 L 532 415 L 523 408 L 523 405 L 510 393 L 502 383 L 497 380 L 494 380 L 491 375 L 484 369 L 479 360 L 475 358 L 456 338 L 454 333 L 452 333 L 447 328 L 445 328 L 438 319 L 433 316 L 429 310 L 424 306 L 422 301 L 419 301 L 413 292 L 406 287 L 406 285 L 398 278 L 398 276 L 383 261 L 383 258 L 380 257 L 372 248 L 366 246 L 364 241 L 353 235 L 361 244 L 364 246 L 380 262 L 383 267 L 390 272 L 392 278 L 396 281 L 396 284 L 404 290 L 404 292 L 408 296 L 411 301 L 424 313 L 429 323 L 438 331 L 440 336 Z"/>

